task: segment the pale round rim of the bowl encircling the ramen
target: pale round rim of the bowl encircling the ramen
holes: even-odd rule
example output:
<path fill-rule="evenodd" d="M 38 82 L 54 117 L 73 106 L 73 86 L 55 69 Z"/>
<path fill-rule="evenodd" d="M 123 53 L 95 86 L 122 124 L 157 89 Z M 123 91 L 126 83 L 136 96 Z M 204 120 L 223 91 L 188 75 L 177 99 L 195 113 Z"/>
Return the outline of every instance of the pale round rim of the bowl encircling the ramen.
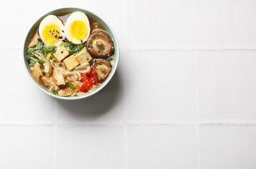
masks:
<path fill-rule="evenodd" d="M 80 11 L 80 12 L 84 12 L 86 15 L 89 15 L 91 18 L 97 18 L 100 19 L 101 21 L 103 21 L 103 25 L 104 27 L 107 27 L 106 29 L 108 29 L 112 34 L 112 38 L 114 40 L 114 45 L 115 45 L 115 53 L 114 53 L 114 66 L 112 66 L 112 72 L 110 73 L 110 75 L 108 76 L 108 78 L 106 79 L 106 81 L 104 81 L 99 87 L 97 87 L 95 90 L 89 92 L 88 94 L 85 94 L 84 96 L 78 96 L 78 97 L 64 97 L 64 96 L 57 96 L 55 94 L 52 94 L 49 90 L 47 90 L 44 86 L 40 85 L 39 83 L 37 83 L 37 81 L 35 81 L 35 78 L 32 77 L 30 70 L 27 68 L 27 66 L 29 67 L 28 63 L 27 63 L 27 58 L 26 58 L 26 53 L 27 53 L 27 38 L 29 36 L 29 34 L 31 34 L 31 31 L 33 29 L 33 27 L 35 27 L 35 25 L 37 25 L 37 23 L 39 21 L 42 21 L 43 18 L 45 18 L 46 16 L 50 15 L 50 14 L 56 14 L 58 13 L 58 11 L 65 11 L 65 10 L 69 10 L 71 12 L 75 12 L 75 11 Z M 61 13 L 61 12 L 59 12 Z M 118 38 L 116 37 L 116 34 L 114 32 L 114 30 L 112 29 L 112 27 L 110 27 L 110 25 L 108 24 L 108 22 L 106 22 L 105 19 L 103 19 L 101 16 L 99 16 L 98 14 L 95 14 L 95 12 L 91 12 L 89 10 L 85 10 L 82 8 L 56 8 L 55 10 L 51 10 L 50 12 L 47 12 L 46 14 L 44 14 L 43 16 L 41 16 L 39 19 L 37 19 L 33 25 L 31 26 L 31 28 L 29 29 L 29 31 L 27 32 L 27 35 L 25 36 L 25 42 L 24 42 L 24 66 L 25 66 L 25 72 L 27 72 L 27 75 L 29 76 L 29 79 L 31 79 L 31 81 L 38 87 L 40 88 L 40 90 L 46 94 L 48 94 L 49 96 L 52 96 L 54 98 L 57 99 L 62 99 L 62 100 L 78 100 L 78 99 L 84 99 L 84 98 L 88 98 L 89 96 L 93 96 L 94 94 L 97 94 L 97 92 L 101 91 L 104 86 L 106 86 L 110 80 L 112 79 L 112 77 L 114 76 L 114 74 L 116 73 L 116 69 L 118 67 L 118 62 L 119 62 L 119 57 L 120 57 L 120 49 L 119 49 L 119 43 L 118 43 Z"/>

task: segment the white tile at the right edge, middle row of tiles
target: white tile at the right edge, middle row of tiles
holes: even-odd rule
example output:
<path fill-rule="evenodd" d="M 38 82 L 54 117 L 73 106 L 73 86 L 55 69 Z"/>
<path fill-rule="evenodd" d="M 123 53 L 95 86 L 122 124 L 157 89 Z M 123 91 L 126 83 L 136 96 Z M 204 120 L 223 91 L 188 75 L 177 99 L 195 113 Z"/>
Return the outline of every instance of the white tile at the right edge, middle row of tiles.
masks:
<path fill-rule="evenodd" d="M 200 118 L 255 122 L 256 52 L 199 51 Z"/>

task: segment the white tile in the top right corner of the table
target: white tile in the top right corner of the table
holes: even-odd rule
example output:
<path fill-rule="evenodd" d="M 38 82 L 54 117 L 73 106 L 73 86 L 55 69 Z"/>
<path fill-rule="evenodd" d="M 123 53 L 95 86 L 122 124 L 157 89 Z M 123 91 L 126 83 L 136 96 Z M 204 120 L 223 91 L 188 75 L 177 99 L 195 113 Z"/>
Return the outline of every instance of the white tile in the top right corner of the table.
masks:
<path fill-rule="evenodd" d="M 196 0 L 198 47 L 255 48 L 256 1 Z"/>

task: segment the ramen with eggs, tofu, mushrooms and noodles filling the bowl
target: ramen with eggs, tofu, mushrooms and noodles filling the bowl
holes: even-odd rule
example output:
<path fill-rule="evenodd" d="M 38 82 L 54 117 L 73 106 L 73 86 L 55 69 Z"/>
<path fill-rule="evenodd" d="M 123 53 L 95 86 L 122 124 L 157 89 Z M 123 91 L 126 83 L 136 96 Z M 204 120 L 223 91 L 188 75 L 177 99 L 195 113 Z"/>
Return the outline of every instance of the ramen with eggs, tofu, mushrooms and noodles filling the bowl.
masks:
<path fill-rule="evenodd" d="M 83 12 L 42 19 L 27 49 L 31 73 L 58 96 L 79 96 L 103 83 L 114 65 L 114 43 Z"/>

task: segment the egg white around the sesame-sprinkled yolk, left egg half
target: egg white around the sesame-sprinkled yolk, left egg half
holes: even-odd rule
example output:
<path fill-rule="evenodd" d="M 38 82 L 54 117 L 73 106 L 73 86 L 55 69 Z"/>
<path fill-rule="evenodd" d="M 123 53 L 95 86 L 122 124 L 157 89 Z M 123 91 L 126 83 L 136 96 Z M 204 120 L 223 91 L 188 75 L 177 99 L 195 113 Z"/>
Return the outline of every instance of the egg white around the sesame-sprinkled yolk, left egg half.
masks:
<path fill-rule="evenodd" d="M 58 31 L 59 32 L 59 36 L 62 37 L 62 38 L 57 39 L 56 42 L 54 42 L 52 44 L 48 43 L 46 41 L 46 37 L 43 36 L 43 29 L 44 29 L 44 27 L 46 27 L 47 25 L 50 25 L 50 24 L 54 24 L 54 25 L 59 26 L 59 31 Z M 47 46 L 48 45 L 59 46 L 61 44 L 62 40 L 65 40 L 65 32 L 63 32 L 63 30 L 64 30 L 64 25 L 63 25 L 62 21 L 59 18 L 57 18 L 57 16 L 49 15 L 49 16 L 46 16 L 46 18 L 42 19 L 42 21 L 40 22 L 40 25 L 39 25 L 39 36 L 42 39 L 42 42 L 44 42 L 44 44 L 46 44 Z M 56 33 L 56 32 L 54 32 L 54 33 Z M 52 36 L 54 36 L 54 34 Z"/>

